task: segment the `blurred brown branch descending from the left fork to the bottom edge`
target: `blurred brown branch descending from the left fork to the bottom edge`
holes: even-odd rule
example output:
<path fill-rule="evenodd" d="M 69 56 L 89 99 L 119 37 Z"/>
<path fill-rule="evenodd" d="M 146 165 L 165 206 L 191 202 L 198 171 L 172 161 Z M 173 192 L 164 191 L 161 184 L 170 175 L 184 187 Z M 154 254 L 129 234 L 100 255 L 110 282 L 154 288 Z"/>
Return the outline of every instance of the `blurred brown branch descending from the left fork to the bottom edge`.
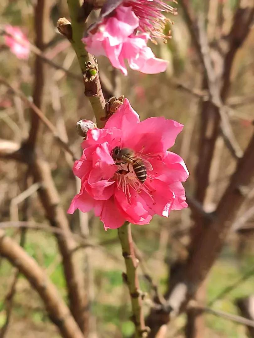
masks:
<path fill-rule="evenodd" d="M 87 299 L 80 267 L 72 255 L 72 250 L 76 247 L 76 243 L 71 237 L 66 213 L 60 206 L 60 198 L 48 163 L 36 160 L 30 164 L 30 171 L 34 181 L 40 182 L 42 185 L 42 188 L 38 190 L 38 194 L 51 226 L 56 226 L 66 234 L 69 234 L 69 236 L 65 237 L 56 234 L 56 238 L 63 259 L 70 310 L 79 327 L 85 333 L 88 330 Z"/>

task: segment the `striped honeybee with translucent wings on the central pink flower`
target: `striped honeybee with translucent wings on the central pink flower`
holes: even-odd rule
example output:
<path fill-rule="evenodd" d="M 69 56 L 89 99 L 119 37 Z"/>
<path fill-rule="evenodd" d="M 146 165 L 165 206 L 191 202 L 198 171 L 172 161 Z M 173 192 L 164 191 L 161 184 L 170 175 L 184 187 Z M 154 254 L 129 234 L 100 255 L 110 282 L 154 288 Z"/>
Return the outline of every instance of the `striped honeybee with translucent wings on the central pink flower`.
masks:
<path fill-rule="evenodd" d="M 114 161 L 119 161 L 115 162 L 116 165 L 128 164 L 128 171 L 119 170 L 120 173 L 124 173 L 124 171 L 126 173 L 130 172 L 129 166 L 131 165 L 141 183 L 144 183 L 147 178 L 147 170 L 153 169 L 148 161 L 135 156 L 135 152 L 129 148 L 114 147 L 111 151 L 111 156 Z"/>

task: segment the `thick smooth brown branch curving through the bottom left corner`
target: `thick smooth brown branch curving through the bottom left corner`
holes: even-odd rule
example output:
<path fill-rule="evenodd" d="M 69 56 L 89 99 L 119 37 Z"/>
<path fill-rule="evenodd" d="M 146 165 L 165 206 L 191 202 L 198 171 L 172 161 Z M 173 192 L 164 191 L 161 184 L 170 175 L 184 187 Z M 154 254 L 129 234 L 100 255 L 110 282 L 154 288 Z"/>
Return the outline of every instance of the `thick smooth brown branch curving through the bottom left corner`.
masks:
<path fill-rule="evenodd" d="M 0 254 L 25 275 L 42 298 L 49 318 L 55 323 L 64 338 L 84 338 L 77 323 L 54 284 L 50 282 L 36 261 L 11 238 L 0 231 Z"/>

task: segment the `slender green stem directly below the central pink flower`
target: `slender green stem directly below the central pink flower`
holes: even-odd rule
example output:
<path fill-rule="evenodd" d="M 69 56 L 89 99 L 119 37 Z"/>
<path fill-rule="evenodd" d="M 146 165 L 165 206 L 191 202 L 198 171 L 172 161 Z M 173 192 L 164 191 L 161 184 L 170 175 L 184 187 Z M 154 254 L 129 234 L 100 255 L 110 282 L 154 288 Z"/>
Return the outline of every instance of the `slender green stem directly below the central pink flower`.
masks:
<path fill-rule="evenodd" d="M 138 260 L 134 255 L 133 241 L 131 236 L 131 225 L 125 222 L 119 229 L 118 235 L 122 246 L 123 257 L 126 265 L 127 285 L 130 292 L 132 320 L 135 324 L 135 338 L 147 337 L 147 328 L 142 310 L 141 291 L 137 277 Z"/>

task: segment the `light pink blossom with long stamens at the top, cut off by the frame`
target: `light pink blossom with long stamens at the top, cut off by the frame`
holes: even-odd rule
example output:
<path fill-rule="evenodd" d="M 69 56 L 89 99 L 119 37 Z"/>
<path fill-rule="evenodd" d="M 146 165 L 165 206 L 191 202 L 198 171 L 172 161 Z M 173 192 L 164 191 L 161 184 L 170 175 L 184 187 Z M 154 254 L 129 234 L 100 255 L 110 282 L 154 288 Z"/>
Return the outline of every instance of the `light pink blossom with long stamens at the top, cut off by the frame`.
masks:
<path fill-rule="evenodd" d="M 99 20 L 82 39 L 86 50 L 96 56 L 107 56 L 111 64 L 127 75 L 125 60 L 133 70 L 146 74 L 164 72 L 168 62 L 156 58 L 148 39 L 164 38 L 169 21 L 161 11 L 175 13 L 160 0 L 108 0 Z M 168 37 L 168 36 L 167 36 Z"/>

